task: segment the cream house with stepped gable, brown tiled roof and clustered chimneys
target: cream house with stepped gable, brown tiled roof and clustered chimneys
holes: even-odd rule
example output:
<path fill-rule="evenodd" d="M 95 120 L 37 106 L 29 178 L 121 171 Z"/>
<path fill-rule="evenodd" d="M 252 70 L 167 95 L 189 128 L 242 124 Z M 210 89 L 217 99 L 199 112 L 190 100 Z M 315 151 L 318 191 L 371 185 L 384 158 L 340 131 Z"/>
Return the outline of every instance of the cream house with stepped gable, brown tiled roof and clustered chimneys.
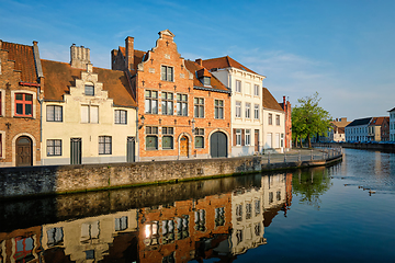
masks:
<path fill-rule="evenodd" d="M 42 60 L 42 164 L 133 162 L 136 103 L 125 72 L 93 68 L 89 49 L 71 62 Z"/>

